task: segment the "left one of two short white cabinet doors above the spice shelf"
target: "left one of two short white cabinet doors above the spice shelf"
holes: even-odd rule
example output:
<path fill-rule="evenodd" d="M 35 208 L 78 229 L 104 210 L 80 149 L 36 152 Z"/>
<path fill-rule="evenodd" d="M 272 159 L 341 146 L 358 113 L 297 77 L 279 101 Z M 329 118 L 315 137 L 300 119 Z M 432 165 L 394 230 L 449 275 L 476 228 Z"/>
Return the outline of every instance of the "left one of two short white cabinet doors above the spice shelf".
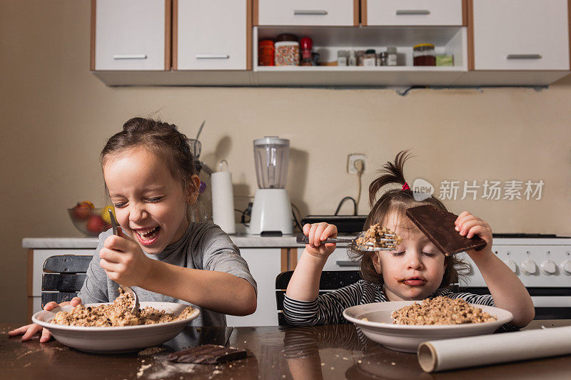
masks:
<path fill-rule="evenodd" d="M 259 25 L 353 26 L 353 0 L 258 0 Z"/>

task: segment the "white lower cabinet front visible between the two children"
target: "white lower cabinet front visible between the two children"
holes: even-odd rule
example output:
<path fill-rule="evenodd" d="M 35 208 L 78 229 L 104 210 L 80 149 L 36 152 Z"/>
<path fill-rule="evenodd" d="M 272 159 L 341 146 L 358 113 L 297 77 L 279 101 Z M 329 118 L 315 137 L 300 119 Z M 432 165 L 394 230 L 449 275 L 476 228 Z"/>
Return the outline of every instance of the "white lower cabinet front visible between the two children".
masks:
<path fill-rule="evenodd" d="M 276 277 L 281 272 L 280 248 L 241 248 L 250 273 L 258 284 L 258 309 L 246 317 L 226 316 L 228 326 L 276 326 Z"/>

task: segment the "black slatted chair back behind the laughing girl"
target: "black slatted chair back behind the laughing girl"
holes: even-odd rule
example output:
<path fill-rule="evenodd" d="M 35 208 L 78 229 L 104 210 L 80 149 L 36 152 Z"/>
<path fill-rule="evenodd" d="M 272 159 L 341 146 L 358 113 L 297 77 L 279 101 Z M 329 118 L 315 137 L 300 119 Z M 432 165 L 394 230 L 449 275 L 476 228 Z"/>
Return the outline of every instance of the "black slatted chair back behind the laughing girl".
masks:
<path fill-rule="evenodd" d="M 51 256 L 44 262 L 41 276 L 41 308 L 48 302 L 71 301 L 84 284 L 92 256 Z"/>

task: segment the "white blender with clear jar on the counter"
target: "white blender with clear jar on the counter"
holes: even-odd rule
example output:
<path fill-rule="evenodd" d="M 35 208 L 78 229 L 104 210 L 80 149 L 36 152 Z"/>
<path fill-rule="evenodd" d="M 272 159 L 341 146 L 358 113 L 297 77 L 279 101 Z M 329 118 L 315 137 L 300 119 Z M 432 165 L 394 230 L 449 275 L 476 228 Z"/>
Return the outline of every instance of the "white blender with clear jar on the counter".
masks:
<path fill-rule="evenodd" d="M 285 190 L 289 158 L 290 140 L 277 136 L 254 140 L 258 190 L 254 195 L 248 234 L 262 236 L 293 234 L 290 197 Z"/>

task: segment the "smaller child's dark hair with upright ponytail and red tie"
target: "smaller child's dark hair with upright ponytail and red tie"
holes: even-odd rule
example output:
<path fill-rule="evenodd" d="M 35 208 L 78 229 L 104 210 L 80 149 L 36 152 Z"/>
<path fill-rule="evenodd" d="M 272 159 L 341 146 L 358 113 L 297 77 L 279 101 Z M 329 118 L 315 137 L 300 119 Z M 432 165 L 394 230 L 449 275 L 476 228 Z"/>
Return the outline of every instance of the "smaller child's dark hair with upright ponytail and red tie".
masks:
<path fill-rule="evenodd" d="M 367 230 L 370 225 L 374 225 L 375 223 L 384 225 L 385 222 L 387 222 L 386 218 L 388 215 L 393 212 L 396 212 L 397 215 L 406 219 L 406 210 L 410 207 L 433 205 L 440 210 L 447 211 L 443 202 L 440 202 L 440 200 L 433 195 L 430 195 L 430 197 L 425 200 L 418 201 L 414 198 L 413 190 L 401 190 L 406 183 L 403 168 L 409 158 L 410 155 L 408 154 L 408 150 L 400 151 L 396 155 L 394 163 L 385 163 L 385 165 L 383 165 L 383 169 L 378 171 L 380 176 L 370 183 L 369 202 L 371 210 L 365 220 L 363 230 Z M 385 185 L 390 184 L 398 184 L 400 186 L 398 188 L 385 191 L 375 202 L 379 190 L 385 187 Z M 378 274 L 373 266 L 374 252 L 349 250 L 349 255 L 353 260 L 360 260 L 360 275 L 363 279 L 375 284 L 383 284 L 383 274 Z M 451 287 L 458 283 L 458 269 L 467 268 L 467 265 L 454 255 L 445 256 L 444 262 L 446 267 L 440 287 Z"/>

